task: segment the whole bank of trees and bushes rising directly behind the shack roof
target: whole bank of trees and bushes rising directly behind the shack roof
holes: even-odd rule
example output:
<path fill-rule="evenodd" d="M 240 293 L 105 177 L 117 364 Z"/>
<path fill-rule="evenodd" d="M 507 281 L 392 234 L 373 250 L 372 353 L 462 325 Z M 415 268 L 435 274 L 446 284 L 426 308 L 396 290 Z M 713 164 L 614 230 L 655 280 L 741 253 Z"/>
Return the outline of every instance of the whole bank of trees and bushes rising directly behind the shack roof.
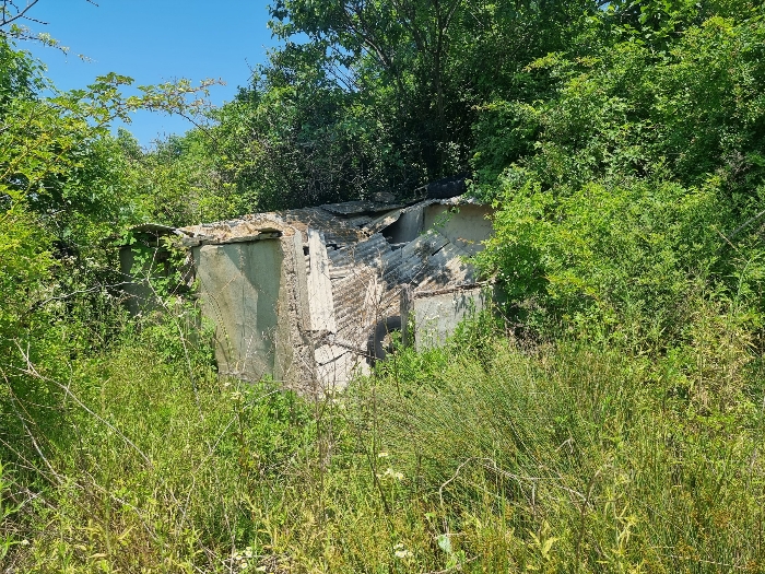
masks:
<path fill-rule="evenodd" d="M 546 93 L 546 75 L 523 68 L 565 49 L 597 12 L 589 0 L 287 0 L 270 10 L 284 45 L 250 85 L 210 113 L 211 125 L 139 162 L 153 218 L 197 223 L 379 191 L 409 197 L 467 173 L 481 106 Z"/>

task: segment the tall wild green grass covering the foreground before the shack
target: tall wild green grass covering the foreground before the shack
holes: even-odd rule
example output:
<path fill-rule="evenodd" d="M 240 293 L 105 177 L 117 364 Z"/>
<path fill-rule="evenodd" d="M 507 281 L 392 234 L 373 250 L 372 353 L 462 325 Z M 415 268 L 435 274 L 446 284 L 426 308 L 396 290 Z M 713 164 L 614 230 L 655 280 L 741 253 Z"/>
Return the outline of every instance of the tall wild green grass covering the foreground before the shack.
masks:
<path fill-rule="evenodd" d="M 468 329 L 317 401 L 131 339 L 5 413 L 3 572 L 763 572 L 762 373 L 715 321 L 652 359 Z"/>

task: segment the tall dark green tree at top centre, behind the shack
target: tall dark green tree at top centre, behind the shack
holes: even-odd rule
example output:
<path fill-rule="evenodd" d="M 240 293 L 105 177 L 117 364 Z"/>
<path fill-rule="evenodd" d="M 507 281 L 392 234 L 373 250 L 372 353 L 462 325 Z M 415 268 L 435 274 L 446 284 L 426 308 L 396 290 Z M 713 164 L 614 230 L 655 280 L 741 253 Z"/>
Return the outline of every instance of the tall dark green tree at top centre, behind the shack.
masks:
<path fill-rule="evenodd" d="M 529 61 L 566 45 L 593 2 L 280 0 L 273 30 L 305 34 L 325 67 L 385 114 L 392 144 L 427 177 L 468 168 L 475 106 L 517 85 Z M 326 54 L 325 54 L 326 52 Z"/>

